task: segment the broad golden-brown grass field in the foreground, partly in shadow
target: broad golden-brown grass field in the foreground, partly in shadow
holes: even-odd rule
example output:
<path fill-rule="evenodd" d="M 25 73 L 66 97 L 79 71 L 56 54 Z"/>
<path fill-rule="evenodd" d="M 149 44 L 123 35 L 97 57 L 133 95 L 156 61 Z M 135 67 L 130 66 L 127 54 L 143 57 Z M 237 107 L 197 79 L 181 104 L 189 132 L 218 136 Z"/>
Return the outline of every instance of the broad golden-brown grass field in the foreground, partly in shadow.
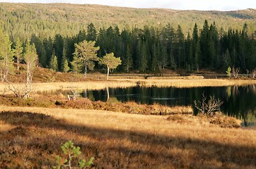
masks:
<path fill-rule="evenodd" d="M 221 128 L 184 116 L 0 106 L 0 168 L 52 168 L 73 140 L 93 168 L 255 168 L 256 130 Z M 181 117 L 182 118 L 182 117 Z M 3 123 L 1 123 L 3 124 Z"/>

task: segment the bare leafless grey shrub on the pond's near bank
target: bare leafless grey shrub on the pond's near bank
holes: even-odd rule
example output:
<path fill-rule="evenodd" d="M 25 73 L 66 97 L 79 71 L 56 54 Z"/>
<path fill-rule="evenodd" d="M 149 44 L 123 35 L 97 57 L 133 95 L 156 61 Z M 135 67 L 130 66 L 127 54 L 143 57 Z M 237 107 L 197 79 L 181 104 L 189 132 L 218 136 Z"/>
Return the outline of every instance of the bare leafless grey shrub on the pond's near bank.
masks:
<path fill-rule="evenodd" d="M 194 100 L 194 107 L 197 108 L 200 113 L 205 115 L 211 115 L 211 113 L 219 111 L 222 104 L 223 101 L 220 99 L 215 99 L 214 96 L 210 96 L 210 99 L 206 101 L 206 96 L 204 96 L 204 93 L 202 94 L 201 101 Z"/>

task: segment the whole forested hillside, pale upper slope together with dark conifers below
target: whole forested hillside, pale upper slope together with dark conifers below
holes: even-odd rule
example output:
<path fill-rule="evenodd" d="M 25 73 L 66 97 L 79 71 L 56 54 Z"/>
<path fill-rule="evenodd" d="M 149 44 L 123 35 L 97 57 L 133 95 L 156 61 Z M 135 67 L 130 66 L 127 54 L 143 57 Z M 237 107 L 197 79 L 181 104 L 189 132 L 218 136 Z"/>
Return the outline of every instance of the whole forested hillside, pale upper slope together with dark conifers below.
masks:
<path fill-rule="evenodd" d="M 158 73 L 165 68 L 224 72 L 231 67 L 247 73 L 256 66 L 253 9 L 173 11 L 71 4 L 1 4 L 0 9 L 3 39 L 8 35 L 11 40 L 6 40 L 11 44 L 6 51 L 13 50 L 8 54 L 17 60 L 29 40 L 35 44 L 38 65 L 56 71 L 84 71 L 74 55 L 75 44 L 84 40 L 99 46 L 98 58 L 110 53 L 120 57 L 120 72 Z M 97 59 L 92 63 L 102 70 Z"/>

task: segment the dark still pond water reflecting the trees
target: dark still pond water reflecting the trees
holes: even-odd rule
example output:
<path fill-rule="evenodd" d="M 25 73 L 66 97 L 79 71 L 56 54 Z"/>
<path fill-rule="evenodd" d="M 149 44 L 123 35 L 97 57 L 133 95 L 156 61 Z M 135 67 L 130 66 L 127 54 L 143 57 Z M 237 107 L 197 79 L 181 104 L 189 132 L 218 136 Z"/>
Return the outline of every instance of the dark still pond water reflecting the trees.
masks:
<path fill-rule="evenodd" d="M 109 97 L 107 96 L 107 90 Z M 243 119 L 244 125 L 256 125 L 256 85 L 230 87 L 130 87 L 83 92 L 92 101 L 135 101 L 139 104 L 163 104 L 168 106 L 190 106 L 200 101 L 202 94 L 221 99 L 221 111 L 226 115 Z"/>

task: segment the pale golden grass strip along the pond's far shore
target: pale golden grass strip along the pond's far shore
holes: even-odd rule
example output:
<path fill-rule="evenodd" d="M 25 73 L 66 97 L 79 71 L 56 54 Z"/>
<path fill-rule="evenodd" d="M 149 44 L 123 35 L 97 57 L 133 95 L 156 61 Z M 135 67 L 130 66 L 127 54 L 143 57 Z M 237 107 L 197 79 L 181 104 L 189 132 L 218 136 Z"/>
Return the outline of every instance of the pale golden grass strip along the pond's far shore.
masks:
<path fill-rule="evenodd" d="M 54 92 L 57 90 L 67 89 L 105 89 L 134 87 L 136 85 L 143 87 L 222 87 L 232 85 L 256 84 L 256 80 L 222 80 L 222 79 L 202 79 L 201 77 L 186 77 L 182 78 L 125 78 L 112 77 L 112 80 L 90 80 L 86 82 L 45 82 L 33 83 L 33 92 Z M 21 88 L 21 83 L 14 84 L 17 88 Z M 23 85 L 23 84 L 22 84 Z M 6 83 L 0 82 L 0 94 L 11 94 Z"/>

